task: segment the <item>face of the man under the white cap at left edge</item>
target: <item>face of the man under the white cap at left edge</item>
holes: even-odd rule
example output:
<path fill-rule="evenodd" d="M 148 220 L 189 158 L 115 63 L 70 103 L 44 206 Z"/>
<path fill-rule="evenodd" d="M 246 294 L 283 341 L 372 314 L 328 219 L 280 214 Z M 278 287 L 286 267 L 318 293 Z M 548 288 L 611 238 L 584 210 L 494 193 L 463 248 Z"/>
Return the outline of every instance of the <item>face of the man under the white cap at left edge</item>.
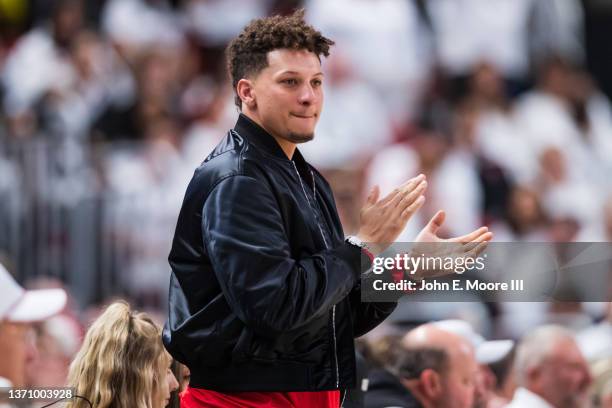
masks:
<path fill-rule="evenodd" d="M 36 356 L 34 333 L 30 324 L 0 322 L 0 377 L 14 387 L 25 386 L 26 364 Z"/>

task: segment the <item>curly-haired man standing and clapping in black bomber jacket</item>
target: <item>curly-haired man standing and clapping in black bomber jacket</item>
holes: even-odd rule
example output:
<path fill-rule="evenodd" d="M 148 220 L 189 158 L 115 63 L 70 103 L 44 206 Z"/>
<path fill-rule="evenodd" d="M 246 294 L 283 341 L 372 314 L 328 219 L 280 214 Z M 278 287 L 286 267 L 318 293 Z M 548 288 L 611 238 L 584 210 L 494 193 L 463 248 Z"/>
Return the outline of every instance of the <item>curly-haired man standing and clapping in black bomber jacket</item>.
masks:
<path fill-rule="evenodd" d="M 297 149 L 314 137 L 331 45 L 297 11 L 252 21 L 227 48 L 240 115 L 195 171 L 169 256 L 163 340 L 191 371 L 182 406 L 338 407 L 355 386 L 354 338 L 395 308 L 362 303 L 361 275 L 427 183 L 375 188 L 345 238 Z"/>

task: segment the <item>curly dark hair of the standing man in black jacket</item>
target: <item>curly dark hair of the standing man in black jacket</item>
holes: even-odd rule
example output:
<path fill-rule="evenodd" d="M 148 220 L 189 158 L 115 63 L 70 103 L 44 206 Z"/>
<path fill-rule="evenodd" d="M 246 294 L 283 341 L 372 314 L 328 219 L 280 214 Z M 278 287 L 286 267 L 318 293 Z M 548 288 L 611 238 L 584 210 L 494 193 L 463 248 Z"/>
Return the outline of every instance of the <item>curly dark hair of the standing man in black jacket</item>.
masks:
<path fill-rule="evenodd" d="M 308 50 L 317 57 L 329 55 L 334 42 L 304 21 L 304 10 L 289 16 L 272 16 L 251 21 L 226 49 L 227 70 L 236 92 L 242 78 L 258 74 L 268 66 L 268 52 L 287 48 Z M 234 102 L 241 109 L 240 97 Z"/>

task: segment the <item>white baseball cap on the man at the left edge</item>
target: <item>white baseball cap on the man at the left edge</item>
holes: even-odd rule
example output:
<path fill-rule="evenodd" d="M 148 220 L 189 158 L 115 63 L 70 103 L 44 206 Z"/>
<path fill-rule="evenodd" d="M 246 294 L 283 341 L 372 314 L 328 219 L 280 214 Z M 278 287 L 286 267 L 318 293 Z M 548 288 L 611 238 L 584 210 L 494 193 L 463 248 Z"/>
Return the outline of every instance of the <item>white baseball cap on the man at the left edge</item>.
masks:
<path fill-rule="evenodd" d="M 0 322 L 36 322 L 59 313 L 66 305 L 63 289 L 25 290 L 0 264 Z"/>

